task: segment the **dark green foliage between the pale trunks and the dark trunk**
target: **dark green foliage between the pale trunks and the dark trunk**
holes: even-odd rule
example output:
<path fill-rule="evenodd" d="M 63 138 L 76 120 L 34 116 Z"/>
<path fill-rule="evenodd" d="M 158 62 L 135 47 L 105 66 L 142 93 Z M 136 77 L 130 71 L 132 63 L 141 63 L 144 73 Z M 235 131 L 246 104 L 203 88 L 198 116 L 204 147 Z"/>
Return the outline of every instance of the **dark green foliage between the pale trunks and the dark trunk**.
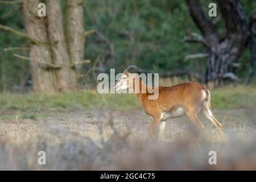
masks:
<path fill-rule="evenodd" d="M 88 1 L 86 27 L 104 34 L 114 45 L 115 55 L 106 42 L 92 35 L 86 41 L 85 56 L 102 55 L 104 63 L 118 71 L 129 64 L 156 71 L 184 68 L 183 59 L 191 47 L 181 40 L 195 26 L 187 6 L 179 2 Z"/>

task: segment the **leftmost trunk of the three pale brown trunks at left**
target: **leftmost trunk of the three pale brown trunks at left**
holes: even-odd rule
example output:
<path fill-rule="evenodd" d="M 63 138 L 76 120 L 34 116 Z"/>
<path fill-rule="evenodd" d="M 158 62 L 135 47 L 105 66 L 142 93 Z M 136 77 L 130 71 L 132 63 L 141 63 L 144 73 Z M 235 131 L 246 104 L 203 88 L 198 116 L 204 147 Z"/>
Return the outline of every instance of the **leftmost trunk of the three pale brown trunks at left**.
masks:
<path fill-rule="evenodd" d="M 30 69 L 33 89 L 36 92 L 54 91 L 55 75 L 51 69 L 40 67 L 52 64 L 51 52 L 47 45 L 46 18 L 38 18 L 38 0 L 24 0 L 23 14 L 27 34 L 36 40 L 30 46 Z"/>

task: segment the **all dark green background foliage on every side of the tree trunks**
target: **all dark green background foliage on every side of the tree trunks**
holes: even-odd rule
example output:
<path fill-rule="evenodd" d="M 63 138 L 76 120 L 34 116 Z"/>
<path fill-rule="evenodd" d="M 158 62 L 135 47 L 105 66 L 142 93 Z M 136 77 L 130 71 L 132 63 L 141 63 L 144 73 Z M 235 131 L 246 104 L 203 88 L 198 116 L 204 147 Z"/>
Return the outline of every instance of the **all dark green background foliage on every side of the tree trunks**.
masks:
<path fill-rule="evenodd" d="M 65 13 L 65 1 L 62 2 Z M 206 14 L 210 2 L 216 1 L 201 1 Z M 242 0 L 241 3 L 247 16 L 256 8 L 256 1 Z M 21 9 L 3 16 L 16 6 L 0 5 L 0 23 L 24 31 Z M 184 1 L 88 0 L 84 8 L 85 30 L 96 29 L 102 36 L 92 34 L 86 37 L 85 59 L 92 60 L 92 64 L 86 65 L 83 72 L 92 67 L 98 55 L 106 72 L 109 72 L 109 68 L 122 72 L 130 64 L 156 72 L 176 69 L 205 71 L 207 59 L 184 61 L 185 55 L 206 52 L 201 44 L 182 42 L 189 32 L 200 33 Z M 225 36 L 223 20 L 218 23 L 218 32 Z M 13 57 L 12 52 L 3 52 L 3 48 L 16 46 L 28 47 L 28 42 L 0 30 L 0 90 L 3 90 L 3 85 L 6 90 L 13 90 L 14 85 L 20 84 L 20 78 L 28 68 L 28 63 Z M 17 53 L 28 54 L 27 51 Z M 247 74 L 249 51 L 243 53 L 240 61 L 242 67 L 237 72 L 244 77 Z"/>

